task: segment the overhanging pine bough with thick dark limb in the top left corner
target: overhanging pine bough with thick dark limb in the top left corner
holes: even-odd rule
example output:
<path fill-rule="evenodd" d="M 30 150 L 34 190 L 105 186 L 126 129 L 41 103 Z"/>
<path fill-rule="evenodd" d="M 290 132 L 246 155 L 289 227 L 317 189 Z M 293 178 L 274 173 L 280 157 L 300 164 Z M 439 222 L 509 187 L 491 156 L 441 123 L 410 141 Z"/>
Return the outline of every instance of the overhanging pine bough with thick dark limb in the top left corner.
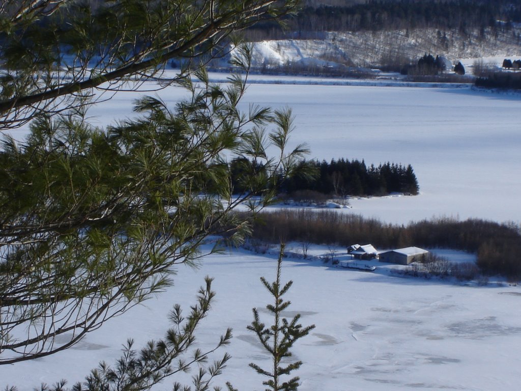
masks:
<path fill-rule="evenodd" d="M 0 130 L 137 90 L 175 58 L 180 75 L 157 87 L 164 88 L 194 63 L 226 53 L 234 31 L 295 7 L 296 0 L 3 0 Z"/>

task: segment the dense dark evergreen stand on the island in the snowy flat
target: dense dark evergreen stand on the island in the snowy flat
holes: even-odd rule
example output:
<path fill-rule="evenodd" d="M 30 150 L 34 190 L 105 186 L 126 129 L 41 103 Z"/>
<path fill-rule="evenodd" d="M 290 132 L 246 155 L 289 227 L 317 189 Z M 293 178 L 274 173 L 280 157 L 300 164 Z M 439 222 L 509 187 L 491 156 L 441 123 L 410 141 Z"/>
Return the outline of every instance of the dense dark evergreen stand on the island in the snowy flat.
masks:
<path fill-rule="evenodd" d="M 288 194 L 312 190 L 335 196 L 383 196 L 389 193 L 418 194 L 418 180 L 411 165 L 384 163 L 379 166 L 358 160 L 311 161 L 315 175 L 286 179 L 282 190 Z"/>

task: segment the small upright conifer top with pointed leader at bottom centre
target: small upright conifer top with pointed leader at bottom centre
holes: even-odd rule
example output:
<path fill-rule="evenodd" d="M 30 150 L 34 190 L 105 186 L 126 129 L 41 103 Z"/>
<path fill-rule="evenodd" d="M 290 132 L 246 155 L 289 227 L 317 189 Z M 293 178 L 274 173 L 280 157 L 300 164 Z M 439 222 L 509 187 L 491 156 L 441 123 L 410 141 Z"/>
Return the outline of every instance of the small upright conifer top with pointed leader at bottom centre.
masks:
<path fill-rule="evenodd" d="M 267 387 L 266 391 L 296 391 L 299 387 L 299 377 L 294 376 L 289 380 L 284 380 L 284 376 L 289 376 L 291 372 L 297 370 L 302 365 L 302 361 L 293 361 L 287 364 L 283 362 L 292 357 L 291 348 L 295 342 L 309 334 L 315 325 L 303 327 L 300 321 L 300 314 L 297 314 L 290 321 L 283 316 L 283 312 L 288 309 L 291 302 L 284 300 L 283 296 L 288 292 L 293 282 L 290 280 L 286 284 L 281 282 L 282 256 L 284 245 L 280 247 L 279 258 L 277 260 L 277 277 L 275 282 L 269 283 L 264 277 L 261 282 L 270 292 L 274 303 L 268 304 L 266 309 L 274 317 L 274 323 L 266 326 L 261 322 L 261 317 L 256 308 L 253 309 L 253 322 L 247 328 L 255 333 L 258 341 L 272 358 L 272 368 L 264 369 L 260 365 L 251 363 L 250 366 L 258 374 L 266 376 L 268 380 L 263 384 Z"/>

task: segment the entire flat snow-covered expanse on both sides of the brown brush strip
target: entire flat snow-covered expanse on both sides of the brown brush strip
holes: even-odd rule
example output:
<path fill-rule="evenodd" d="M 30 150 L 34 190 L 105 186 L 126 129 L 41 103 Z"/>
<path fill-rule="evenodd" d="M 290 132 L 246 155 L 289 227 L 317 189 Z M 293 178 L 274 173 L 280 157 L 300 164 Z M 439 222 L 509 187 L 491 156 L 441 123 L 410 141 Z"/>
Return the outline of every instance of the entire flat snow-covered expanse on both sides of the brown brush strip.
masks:
<path fill-rule="evenodd" d="M 432 216 L 521 221 L 521 96 L 469 88 L 252 84 L 244 99 L 290 106 L 292 143 L 307 142 L 319 159 L 348 157 L 367 164 L 412 164 L 418 197 L 353 200 L 352 210 L 392 223 Z M 161 92 L 172 104 L 185 92 Z M 133 95 L 132 95 L 133 96 Z M 93 109 L 100 124 L 130 115 L 129 95 Z M 57 355 L 0 367 L 0 384 L 20 390 L 61 378 L 80 381 L 89 369 L 114 361 L 133 337 L 140 347 L 159 338 L 167 313 L 179 302 L 188 310 L 205 275 L 215 277 L 217 298 L 201 327 L 201 347 L 213 346 L 226 327 L 233 356 L 222 379 L 240 390 L 263 389 L 247 367 L 269 365 L 246 331 L 251 308 L 270 301 L 260 276 L 275 277 L 273 256 L 244 251 L 211 255 L 199 270 L 181 267 L 175 286 L 109 321 L 81 344 Z M 521 378 L 521 290 L 490 284 L 461 286 L 286 260 L 283 279 L 294 284 L 287 314 L 300 312 L 312 334 L 294 349 L 304 362 L 302 391 L 517 390 Z M 268 319 L 266 319 L 268 322 Z M 178 380 L 176 378 L 176 380 Z M 170 389 L 171 381 L 157 389 Z"/>

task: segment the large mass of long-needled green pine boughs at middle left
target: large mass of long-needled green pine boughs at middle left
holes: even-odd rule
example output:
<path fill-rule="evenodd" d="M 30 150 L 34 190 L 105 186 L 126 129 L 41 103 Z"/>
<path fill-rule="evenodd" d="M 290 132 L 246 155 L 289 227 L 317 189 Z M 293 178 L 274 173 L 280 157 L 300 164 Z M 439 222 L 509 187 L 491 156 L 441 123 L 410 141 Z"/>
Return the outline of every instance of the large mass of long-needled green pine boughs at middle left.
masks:
<path fill-rule="evenodd" d="M 24 143 L 7 138 L 0 152 L 0 363 L 46 356 L 77 343 L 106 319 L 170 283 L 179 263 L 194 263 L 208 235 L 238 242 L 247 219 L 230 212 L 262 193 L 306 149 L 284 147 L 291 113 L 240 113 L 245 84 L 191 83 L 175 111 L 152 97 L 142 118 L 106 131 L 84 117 L 41 117 Z M 267 133 L 264 128 L 275 126 Z M 270 158 L 269 144 L 280 150 Z M 225 154 L 255 157 L 263 175 L 244 172 L 249 192 L 231 201 Z M 262 190 L 262 191 L 261 191 Z M 225 201 L 225 202 L 223 202 Z M 32 325 L 32 332 L 17 330 Z M 70 336 L 64 345 L 58 335 Z M 20 338 L 20 335 L 25 337 Z M 13 336 L 17 336 L 14 338 Z"/>

